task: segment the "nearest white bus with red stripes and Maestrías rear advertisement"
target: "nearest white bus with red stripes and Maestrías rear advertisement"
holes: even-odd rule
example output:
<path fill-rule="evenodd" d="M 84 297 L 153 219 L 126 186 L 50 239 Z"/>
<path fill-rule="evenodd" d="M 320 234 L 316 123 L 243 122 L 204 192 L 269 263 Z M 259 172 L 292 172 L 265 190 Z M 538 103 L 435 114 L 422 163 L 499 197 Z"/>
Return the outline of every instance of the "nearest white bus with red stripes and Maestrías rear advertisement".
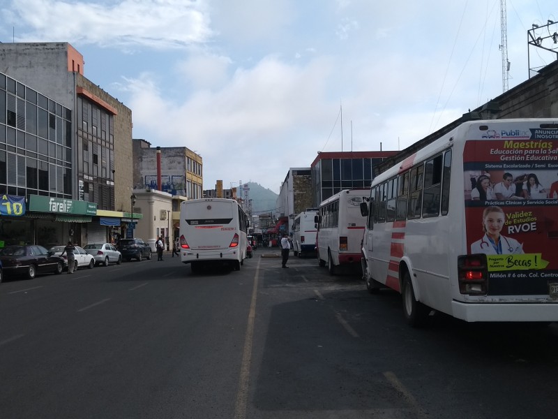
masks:
<path fill-rule="evenodd" d="M 418 149 L 361 205 L 368 290 L 401 293 L 414 326 L 558 321 L 557 179 L 558 119 L 465 122 Z"/>

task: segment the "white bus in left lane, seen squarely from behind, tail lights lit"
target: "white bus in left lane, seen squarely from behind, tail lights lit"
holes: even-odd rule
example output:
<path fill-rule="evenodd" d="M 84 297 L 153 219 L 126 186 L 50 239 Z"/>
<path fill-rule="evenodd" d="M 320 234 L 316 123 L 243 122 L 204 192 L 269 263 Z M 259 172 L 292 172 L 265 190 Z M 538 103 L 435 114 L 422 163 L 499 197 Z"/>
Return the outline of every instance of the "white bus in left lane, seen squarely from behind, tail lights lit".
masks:
<path fill-rule="evenodd" d="M 192 272 L 204 263 L 224 263 L 240 270 L 246 258 L 248 216 L 232 199 L 186 200 L 180 208 L 180 254 Z"/>

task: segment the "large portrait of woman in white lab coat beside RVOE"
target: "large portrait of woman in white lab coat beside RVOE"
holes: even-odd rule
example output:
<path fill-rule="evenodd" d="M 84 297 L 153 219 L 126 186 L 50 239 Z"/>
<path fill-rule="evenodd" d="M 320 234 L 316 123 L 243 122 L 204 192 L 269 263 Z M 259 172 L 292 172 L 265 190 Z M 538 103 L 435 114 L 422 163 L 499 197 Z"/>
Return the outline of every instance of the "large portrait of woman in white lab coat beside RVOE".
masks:
<path fill-rule="evenodd" d="M 506 214 L 502 208 L 492 205 L 483 212 L 483 231 L 481 240 L 471 244 L 471 253 L 485 253 L 487 255 L 507 255 L 524 253 L 523 244 L 511 237 L 500 234 Z"/>

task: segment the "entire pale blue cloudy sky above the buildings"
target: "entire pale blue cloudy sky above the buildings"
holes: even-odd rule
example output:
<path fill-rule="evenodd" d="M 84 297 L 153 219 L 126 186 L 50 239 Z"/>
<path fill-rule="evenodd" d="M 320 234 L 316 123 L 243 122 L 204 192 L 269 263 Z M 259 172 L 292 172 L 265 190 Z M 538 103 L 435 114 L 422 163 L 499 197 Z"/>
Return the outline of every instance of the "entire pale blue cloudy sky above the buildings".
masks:
<path fill-rule="evenodd" d="M 502 94 L 500 3 L 0 0 L 0 41 L 73 45 L 86 78 L 132 110 L 134 138 L 203 157 L 204 189 L 278 193 L 319 151 L 404 149 Z M 511 89 L 556 59 L 527 31 L 558 20 L 558 3 L 506 12 Z"/>

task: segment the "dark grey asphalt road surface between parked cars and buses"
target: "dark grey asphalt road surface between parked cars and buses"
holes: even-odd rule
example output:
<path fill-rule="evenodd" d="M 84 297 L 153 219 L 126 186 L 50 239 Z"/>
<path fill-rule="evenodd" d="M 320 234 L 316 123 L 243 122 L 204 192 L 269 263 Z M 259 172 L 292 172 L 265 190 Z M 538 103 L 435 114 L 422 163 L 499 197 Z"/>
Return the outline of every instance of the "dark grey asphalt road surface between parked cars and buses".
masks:
<path fill-rule="evenodd" d="M 396 293 L 276 256 L 0 284 L 0 418 L 555 418 L 557 325 L 412 329 Z"/>

